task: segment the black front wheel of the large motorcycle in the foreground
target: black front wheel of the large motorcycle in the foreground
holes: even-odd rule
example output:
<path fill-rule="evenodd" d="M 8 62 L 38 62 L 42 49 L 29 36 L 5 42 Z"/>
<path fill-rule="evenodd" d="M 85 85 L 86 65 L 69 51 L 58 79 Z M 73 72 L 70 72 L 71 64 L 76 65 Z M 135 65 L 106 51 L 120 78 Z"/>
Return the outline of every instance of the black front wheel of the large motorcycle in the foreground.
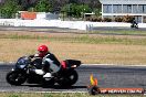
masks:
<path fill-rule="evenodd" d="M 27 80 L 27 75 L 24 72 L 11 71 L 7 74 L 6 79 L 9 84 L 19 86 Z"/>

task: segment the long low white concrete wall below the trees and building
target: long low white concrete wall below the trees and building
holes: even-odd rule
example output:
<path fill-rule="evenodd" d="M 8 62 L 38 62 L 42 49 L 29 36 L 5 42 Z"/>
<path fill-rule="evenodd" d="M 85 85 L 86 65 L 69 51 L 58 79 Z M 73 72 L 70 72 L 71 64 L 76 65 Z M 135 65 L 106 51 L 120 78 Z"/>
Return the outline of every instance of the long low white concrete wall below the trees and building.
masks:
<path fill-rule="evenodd" d="M 131 23 L 123 22 L 87 22 L 87 21 L 61 21 L 61 20 L 19 20 L 0 19 L 0 25 L 9 26 L 55 26 L 76 30 L 92 30 L 93 28 L 131 28 Z M 138 23 L 146 29 L 146 23 Z"/>

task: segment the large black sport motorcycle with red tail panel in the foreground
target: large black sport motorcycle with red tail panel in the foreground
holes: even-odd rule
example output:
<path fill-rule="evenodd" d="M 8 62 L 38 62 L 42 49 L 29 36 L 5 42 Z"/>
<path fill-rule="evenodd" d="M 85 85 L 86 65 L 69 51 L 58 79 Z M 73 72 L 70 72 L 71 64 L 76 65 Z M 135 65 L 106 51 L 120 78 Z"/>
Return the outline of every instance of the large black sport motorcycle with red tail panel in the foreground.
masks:
<path fill-rule="evenodd" d="M 6 79 L 11 85 L 41 84 L 41 85 L 54 85 L 72 86 L 79 79 L 79 74 L 75 71 L 81 65 L 81 61 L 65 60 L 61 62 L 61 72 L 51 78 L 44 78 L 43 75 L 36 73 L 42 71 L 42 58 L 30 58 L 29 56 L 20 57 L 14 68 L 12 68 L 6 76 Z"/>

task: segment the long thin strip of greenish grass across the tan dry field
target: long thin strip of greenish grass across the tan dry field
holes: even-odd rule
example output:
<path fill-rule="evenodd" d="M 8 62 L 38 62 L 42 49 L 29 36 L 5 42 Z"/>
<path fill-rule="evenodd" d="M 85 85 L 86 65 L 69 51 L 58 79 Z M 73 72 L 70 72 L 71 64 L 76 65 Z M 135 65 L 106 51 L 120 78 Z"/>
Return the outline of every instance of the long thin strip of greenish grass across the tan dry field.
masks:
<path fill-rule="evenodd" d="M 131 33 L 131 32 L 128 32 Z M 137 32 L 136 32 L 137 33 Z M 73 37 L 69 36 L 40 36 L 29 34 L 0 34 L 0 39 L 13 39 L 13 40 L 48 40 L 48 41 L 60 41 L 66 43 L 90 43 L 90 44 L 126 44 L 126 45 L 146 45 L 146 37 L 143 39 L 129 39 L 129 37 L 117 37 L 117 36 L 90 36 L 87 34 L 76 35 Z"/>

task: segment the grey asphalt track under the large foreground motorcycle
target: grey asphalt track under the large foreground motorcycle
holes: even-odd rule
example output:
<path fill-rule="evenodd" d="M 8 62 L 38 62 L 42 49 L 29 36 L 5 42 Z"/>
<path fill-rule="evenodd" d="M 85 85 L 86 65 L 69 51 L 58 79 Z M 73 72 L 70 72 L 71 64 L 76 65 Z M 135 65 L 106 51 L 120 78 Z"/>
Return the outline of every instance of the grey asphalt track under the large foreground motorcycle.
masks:
<path fill-rule="evenodd" d="M 70 88 L 41 87 L 40 85 L 23 84 L 11 86 L 6 82 L 6 74 L 13 67 L 13 64 L 0 65 L 0 91 L 87 91 L 90 75 L 98 79 L 100 87 L 142 87 L 146 88 L 146 67 L 140 66 L 87 66 L 77 68 L 79 82 Z"/>

